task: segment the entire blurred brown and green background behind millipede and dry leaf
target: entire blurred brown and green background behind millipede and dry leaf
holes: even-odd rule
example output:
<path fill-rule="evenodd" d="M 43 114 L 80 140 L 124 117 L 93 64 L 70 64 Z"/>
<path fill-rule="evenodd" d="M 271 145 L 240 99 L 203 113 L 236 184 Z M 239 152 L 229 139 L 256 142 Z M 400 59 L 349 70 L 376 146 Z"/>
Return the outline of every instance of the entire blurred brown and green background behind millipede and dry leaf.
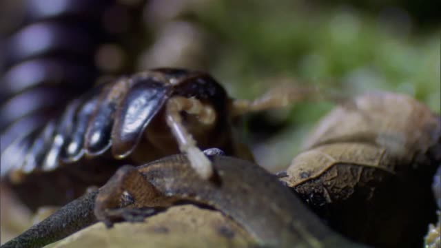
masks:
<path fill-rule="evenodd" d="M 9 20 L 0 22 L 0 38 L 23 19 L 22 1 L 0 3 L 2 17 Z M 389 90 L 414 96 L 441 112 L 439 1 L 115 0 L 115 4 L 129 10 L 110 18 L 111 26 L 125 28 L 121 31 L 125 41 L 103 45 L 96 52 L 103 74 L 158 67 L 205 70 L 240 99 L 254 99 L 269 87 L 290 82 L 319 85 L 342 96 Z M 300 151 L 314 123 L 333 106 L 298 103 L 251 114 L 239 135 L 252 145 L 260 164 L 283 168 Z"/>

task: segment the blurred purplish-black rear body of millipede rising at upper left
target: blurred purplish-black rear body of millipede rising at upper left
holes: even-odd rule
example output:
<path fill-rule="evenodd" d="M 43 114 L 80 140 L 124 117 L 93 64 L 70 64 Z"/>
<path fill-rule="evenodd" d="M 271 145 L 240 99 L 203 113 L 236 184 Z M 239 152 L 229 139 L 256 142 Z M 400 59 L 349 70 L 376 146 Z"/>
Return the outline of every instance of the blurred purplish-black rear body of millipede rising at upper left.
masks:
<path fill-rule="evenodd" d="M 32 112 L 57 112 L 61 103 L 90 88 L 98 76 L 95 50 L 109 39 L 99 18 L 110 2 L 63 1 L 59 8 L 49 8 L 50 3 L 26 1 L 25 23 L 6 41 L 1 130 Z M 2 137 L 2 147 L 11 139 Z"/>

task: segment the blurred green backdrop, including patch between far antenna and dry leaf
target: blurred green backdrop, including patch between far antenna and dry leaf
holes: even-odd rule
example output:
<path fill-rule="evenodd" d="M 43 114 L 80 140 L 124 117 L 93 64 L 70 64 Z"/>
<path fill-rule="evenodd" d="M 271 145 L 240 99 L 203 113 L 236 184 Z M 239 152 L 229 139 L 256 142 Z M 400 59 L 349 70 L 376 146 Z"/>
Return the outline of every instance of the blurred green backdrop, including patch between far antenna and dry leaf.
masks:
<path fill-rule="evenodd" d="M 344 96 L 403 92 L 440 113 L 440 17 L 410 1 L 189 1 L 184 17 L 209 36 L 205 63 L 236 98 L 280 82 Z M 248 116 L 260 164 L 283 168 L 332 103 L 299 103 Z"/>

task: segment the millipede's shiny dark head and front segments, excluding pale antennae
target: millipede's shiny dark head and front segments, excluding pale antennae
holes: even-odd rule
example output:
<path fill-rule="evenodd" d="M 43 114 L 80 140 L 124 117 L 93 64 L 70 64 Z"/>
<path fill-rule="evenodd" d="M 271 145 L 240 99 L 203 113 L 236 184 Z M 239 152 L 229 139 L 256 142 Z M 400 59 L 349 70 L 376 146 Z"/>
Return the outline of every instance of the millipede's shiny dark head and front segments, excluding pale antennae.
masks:
<path fill-rule="evenodd" d="M 30 207 L 62 205 L 129 161 L 139 165 L 178 153 L 166 105 L 179 97 L 200 101 L 214 115 L 206 124 L 203 112 L 180 113 L 198 147 L 239 154 L 223 87 L 205 73 L 159 69 L 103 83 L 71 101 L 61 117 L 27 136 L 28 143 L 6 148 L 2 174 Z"/>

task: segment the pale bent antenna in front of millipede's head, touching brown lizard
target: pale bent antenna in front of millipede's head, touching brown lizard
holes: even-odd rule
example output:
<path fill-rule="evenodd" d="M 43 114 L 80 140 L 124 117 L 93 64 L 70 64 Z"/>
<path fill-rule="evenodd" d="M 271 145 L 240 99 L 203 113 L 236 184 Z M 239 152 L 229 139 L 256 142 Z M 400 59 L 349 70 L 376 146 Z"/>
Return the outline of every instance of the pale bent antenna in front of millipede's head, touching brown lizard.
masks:
<path fill-rule="evenodd" d="M 212 163 L 196 146 L 196 141 L 184 127 L 179 114 L 181 111 L 198 116 L 198 121 L 203 125 L 212 125 L 216 119 L 216 113 L 211 106 L 203 105 L 201 101 L 194 98 L 174 96 L 167 101 L 167 125 L 178 141 L 179 150 L 187 154 L 190 164 L 199 176 L 208 179 L 213 175 Z"/>

